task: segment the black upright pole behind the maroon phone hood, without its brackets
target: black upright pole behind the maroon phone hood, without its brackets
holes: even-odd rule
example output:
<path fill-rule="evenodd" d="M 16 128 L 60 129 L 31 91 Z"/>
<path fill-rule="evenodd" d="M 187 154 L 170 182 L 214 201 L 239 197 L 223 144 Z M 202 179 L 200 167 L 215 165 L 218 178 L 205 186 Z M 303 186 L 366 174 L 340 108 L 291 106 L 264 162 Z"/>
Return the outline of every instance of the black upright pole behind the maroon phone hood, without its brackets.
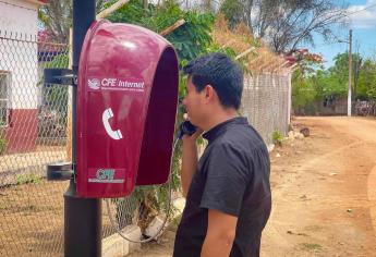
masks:
<path fill-rule="evenodd" d="M 95 21 L 95 0 L 73 0 L 73 64 L 78 72 L 81 48 L 90 24 Z M 76 164 L 76 85 L 72 94 L 72 162 Z M 64 194 L 64 256 L 101 256 L 101 200 L 76 196 L 74 180 Z"/>

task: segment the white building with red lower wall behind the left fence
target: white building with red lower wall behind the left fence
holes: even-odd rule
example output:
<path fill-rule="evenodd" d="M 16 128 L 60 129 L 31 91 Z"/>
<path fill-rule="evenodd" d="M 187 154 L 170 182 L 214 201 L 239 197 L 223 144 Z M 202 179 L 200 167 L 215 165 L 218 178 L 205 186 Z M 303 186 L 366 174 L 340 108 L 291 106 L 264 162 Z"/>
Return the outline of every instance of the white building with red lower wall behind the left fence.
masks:
<path fill-rule="evenodd" d="M 7 152 L 36 147 L 38 7 L 46 2 L 0 1 L 0 137 Z"/>

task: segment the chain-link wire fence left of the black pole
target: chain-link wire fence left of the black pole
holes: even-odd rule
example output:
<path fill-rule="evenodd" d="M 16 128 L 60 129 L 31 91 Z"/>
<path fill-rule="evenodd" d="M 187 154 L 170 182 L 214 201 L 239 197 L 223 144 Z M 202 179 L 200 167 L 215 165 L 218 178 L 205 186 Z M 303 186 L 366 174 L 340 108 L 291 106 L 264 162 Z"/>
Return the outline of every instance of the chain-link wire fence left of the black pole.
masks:
<path fill-rule="evenodd" d="M 43 70 L 65 66 L 68 50 L 0 32 L 0 256 L 62 254 L 68 184 L 45 173 L 66 159 L 68 96 L 43 84 Z"/>

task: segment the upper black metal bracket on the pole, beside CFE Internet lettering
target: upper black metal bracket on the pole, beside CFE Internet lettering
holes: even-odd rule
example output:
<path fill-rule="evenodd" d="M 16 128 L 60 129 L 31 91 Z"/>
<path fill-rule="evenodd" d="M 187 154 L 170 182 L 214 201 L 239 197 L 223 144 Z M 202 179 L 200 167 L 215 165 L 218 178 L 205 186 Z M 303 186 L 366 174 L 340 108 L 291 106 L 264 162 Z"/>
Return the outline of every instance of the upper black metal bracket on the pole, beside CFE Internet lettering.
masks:
<path fill-rule="evenodd" d="M 59 84 L 64 86 L 77 85 L 77 75 L 70 69 L 45 69 L 45 84 Z"/>

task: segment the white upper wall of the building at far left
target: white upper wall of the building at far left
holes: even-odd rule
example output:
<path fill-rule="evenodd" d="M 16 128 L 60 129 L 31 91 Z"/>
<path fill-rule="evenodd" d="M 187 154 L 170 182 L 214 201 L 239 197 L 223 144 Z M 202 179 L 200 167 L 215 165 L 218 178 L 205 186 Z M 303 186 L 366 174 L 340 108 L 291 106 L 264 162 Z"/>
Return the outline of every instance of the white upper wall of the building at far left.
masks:
<path fill-rule="evenodd" d="M 0 2 L 0 70 L 12 74 L 12 109 L 37 108 L 37 8 L 28 1 Z"/>

